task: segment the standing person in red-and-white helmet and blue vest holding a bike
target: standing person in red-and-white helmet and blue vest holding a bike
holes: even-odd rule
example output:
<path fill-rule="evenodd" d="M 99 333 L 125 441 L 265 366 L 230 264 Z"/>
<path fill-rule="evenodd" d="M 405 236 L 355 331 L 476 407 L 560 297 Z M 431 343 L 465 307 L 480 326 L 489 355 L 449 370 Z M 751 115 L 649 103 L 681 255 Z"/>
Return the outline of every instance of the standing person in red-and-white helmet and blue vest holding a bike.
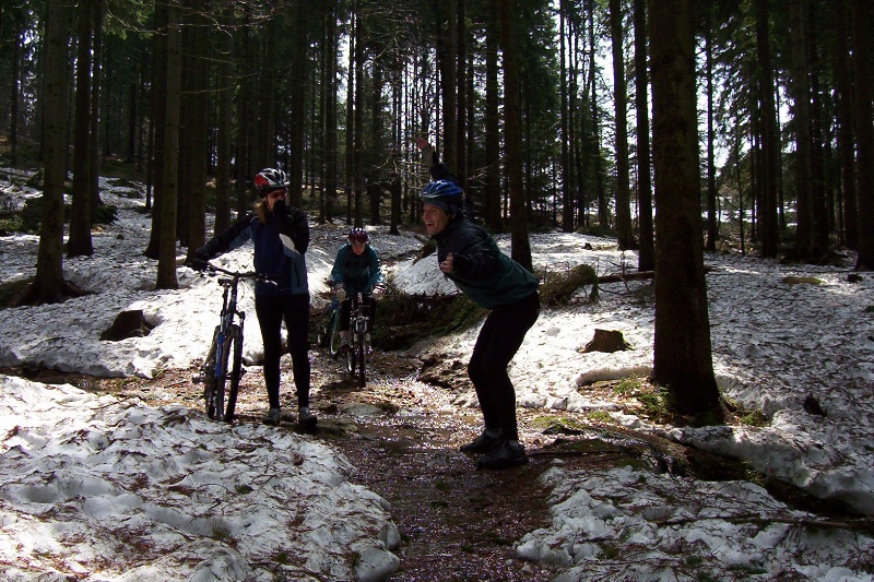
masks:
<path fill-rule="evenodd" d="M 264 342 L 264 384 L 270 409 L 264 424 L 280 424 L 280 359 L 282 322 L 288 332 L 294 383 L 297 390 L 297 421 L 314 427 L 318 418 L 309 409 L 309 285 L 304 253 L 309 246 L 309 225 L 300 209 L 285 203 L 285 173 L 265 168 L 255 177 L 260 200 L 249 213 L 199 248 L 189 261 L 203 270 L 206 261 L 234 250 L 247 240 L 255 247 L 255 271 L 268 275 L 268 282 L 255 285 L 255 311 Z"/>

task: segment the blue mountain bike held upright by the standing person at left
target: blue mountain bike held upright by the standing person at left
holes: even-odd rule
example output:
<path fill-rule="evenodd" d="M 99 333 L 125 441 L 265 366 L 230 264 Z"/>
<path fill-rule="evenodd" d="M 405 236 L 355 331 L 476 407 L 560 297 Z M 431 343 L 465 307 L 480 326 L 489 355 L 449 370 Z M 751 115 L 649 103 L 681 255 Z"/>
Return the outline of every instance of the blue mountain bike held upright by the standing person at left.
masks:
<path fill-rule="evenodd" d="M 206 416 L 213 420 L 231 423 L 234 420 L 234 408 L 237 405 L 239 380 L 245 373 L 243 324 L 246 321 L 246 313 L 237 309 L 237 287 L 243 280 L 268 281 L 268 278 L 258 273 L 227 271 L 212 263 L 206 263 L 206 270 L 227 276 L 218 277 L 218 284 L 224 287 L 220 322 L 213 332 L 212 343 L 200 375 L 194 381 L 203 383 Z"/>

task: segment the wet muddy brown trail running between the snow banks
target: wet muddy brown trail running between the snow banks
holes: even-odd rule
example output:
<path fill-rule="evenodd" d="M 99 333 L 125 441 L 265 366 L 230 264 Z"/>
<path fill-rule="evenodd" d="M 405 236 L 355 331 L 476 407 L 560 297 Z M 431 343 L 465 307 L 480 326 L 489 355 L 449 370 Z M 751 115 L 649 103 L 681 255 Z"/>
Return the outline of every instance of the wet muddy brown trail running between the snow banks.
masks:
<path fill-rule="evenodd" d="M 391 506 L 401 559 L 393 581 L 547 581 L 556 571 L 516 557 L 513 545 L 550 522 L 550 489 L 540 475 L 554 464 L 604 470 L 648 466 L 653 471 L 705 478 L 744 478 L 744 467 L 581 415 L 519 408 L 520 438 L 530 462 L 503 471 L 477 470 L 475 458 L 458 448 L 481 430 L 479 409 L 462 405 L 471 395 L 463 366 L 447 363 L 436 387 L 420 377 L 422 361 L 376 351 L 366 387 L 349 377 L 340 360 L 314 349 L 312 403 L 319 424 L 308 433 L 335 448 L 355 470 L 350 480 L 375 491 Z M 291 360 L 282 360 L 283 423 L 298 430 L 291 383 Z M 201 409 L 196 370 L 165 370 L 152 380 L 105 379 L 42 369 L 5 369 L 47 383 L 68 382 L 95 392 L 139 397 L 150 405 L 185 404 Z M 260 423 L 267 409 L 261 370 L 244 376 L 238 423 Z M 772 495 L 810 510 L 805 496 L 772 484 Z"/>

